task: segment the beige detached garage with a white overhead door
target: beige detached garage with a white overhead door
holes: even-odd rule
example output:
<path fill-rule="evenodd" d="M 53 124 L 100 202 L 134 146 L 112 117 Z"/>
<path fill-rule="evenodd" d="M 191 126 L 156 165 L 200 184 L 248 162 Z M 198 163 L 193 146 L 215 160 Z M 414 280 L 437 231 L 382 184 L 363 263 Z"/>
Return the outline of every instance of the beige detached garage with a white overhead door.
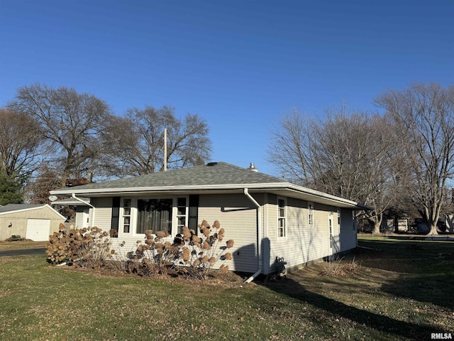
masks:
<path fill-rule="evenodd" d="M 8 204 L 0 206 L 0 240 L 21 236 L 35 242 L 49 240 L 65 217 L 49 205 Z"/>

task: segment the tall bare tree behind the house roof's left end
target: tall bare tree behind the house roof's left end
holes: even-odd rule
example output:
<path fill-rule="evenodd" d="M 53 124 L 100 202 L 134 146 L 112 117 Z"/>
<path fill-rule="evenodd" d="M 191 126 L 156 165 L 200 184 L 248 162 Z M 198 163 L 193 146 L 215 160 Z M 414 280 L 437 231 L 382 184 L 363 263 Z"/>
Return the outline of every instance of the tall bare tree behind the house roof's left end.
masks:
<path fill-rule="evenodd" d="M 9 107 L 40 122 L 54 148 L 53 161 L 61 168 L 62 185 L 70 176 L 92 171 L 99 153 L 96 138 L 109 114 L 104 101 L 72 88 L 34 84 L 20 87 Z"/>

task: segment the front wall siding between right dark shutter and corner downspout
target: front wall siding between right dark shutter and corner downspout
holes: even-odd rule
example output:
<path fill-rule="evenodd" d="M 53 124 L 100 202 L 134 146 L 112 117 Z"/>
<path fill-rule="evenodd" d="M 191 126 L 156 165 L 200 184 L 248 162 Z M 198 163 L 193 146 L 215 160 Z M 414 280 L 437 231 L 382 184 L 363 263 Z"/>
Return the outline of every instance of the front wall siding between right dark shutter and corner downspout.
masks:
<path fill-rule="evenodd" d="M 263 195 L 253 197 L 258 200 Z M 200 195 L 199 223 L 202 220 L 209 224 L 218 220 L 226 230 L 224 241 L 233 239 L 234 246 L 228 249 L 233 259 L 225 263 L 228 269 L 257 271 L 257 209 L 248 197 L 243 194 Z M 216 265 L 220 266 L 221 263 Z"/>

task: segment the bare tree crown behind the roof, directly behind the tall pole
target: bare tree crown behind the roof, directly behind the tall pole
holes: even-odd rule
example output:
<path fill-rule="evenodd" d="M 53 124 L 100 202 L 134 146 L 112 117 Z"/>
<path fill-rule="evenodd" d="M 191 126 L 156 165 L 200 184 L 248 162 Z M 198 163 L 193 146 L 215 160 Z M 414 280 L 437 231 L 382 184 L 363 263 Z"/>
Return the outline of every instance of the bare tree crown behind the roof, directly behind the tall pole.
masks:
<path fill-rule="evenodd" d="M 167 167 L 203 164 L 210 156 L 208 126 L 199 116 L 175 117 L 175 109 L 129 109 L 111 117 L 104 130 L 104 152 L 112 175 L 143 175 L 164 167 L 164 129 L 167 129 Z"/>

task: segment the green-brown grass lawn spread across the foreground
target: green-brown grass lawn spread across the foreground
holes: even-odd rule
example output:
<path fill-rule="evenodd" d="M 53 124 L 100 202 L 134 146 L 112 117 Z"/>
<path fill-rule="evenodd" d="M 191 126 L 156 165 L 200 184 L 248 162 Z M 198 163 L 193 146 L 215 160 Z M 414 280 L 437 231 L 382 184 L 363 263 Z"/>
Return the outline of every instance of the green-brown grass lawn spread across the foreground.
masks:
<path fill-rule="evenodd" d="M 74 271 L 45 255 L 0 257 L 0 340 L 454 337 L 453 242 L 361 237 L 359 244 L 367 247 L 353 254 L 359 274 L 321 276 L 322 263 L 252 284 Z"/>

